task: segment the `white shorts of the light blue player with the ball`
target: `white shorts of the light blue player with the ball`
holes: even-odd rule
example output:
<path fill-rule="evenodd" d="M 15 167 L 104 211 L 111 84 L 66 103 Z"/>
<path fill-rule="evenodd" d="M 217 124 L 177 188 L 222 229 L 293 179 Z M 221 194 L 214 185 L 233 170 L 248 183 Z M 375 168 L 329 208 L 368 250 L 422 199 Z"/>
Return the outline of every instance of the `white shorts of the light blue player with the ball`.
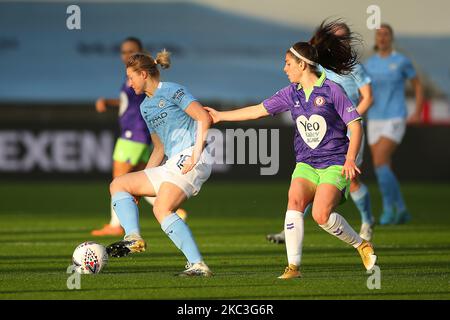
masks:
<path fill-rule="evenodd" d="M 183 190 L 188 198 L 198 194 L 202 184 L 211 175 L 212 161 L 205 148 L 197 165 L 188 173 L 182 174 L 182 164 L 187 157 L 192 156 L 193 148 L 187 148 L 174 155 L 159 167 L 144 170 L 148 179 L 153 184 L 156 194 L 158 194 L 163 182 L 173 183 Z"/>

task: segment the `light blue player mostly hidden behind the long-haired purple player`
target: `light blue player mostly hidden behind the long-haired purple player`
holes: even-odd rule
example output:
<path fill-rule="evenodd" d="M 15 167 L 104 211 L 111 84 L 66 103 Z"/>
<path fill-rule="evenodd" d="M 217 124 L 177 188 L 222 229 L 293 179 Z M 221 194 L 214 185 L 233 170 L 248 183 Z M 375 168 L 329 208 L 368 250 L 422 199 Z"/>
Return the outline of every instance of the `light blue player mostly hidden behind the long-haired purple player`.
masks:
<path fill-rule="evenodd" d="M 322 25 L 323 24 L 324 23 L 322 23 Z M 320 28 L 321 27 L 319 27 L 319 30 Z M 337 36 L 348 36 L 350 34 L 350 28 L 344 22 L 337 22 L 335 34 Z M 316 41 L 318 40 L 316 39 L 316 35 L 314 35 L 309 42 L 314 44 Z M 358 113 L 363 116 L 370 108 L 373 101 L 370 77 L 367 75 L 364 67 L 361 64 L 356 64 L 351 73 L 344 75 L 337 74 L 331 70 L 325 70 L 325 72 L 327 79 L 336 82 L 344 89 L 353 105 L 357 106 L 356 110 Z M 358 167 L 361 167 L 363 162 L 364 143 L 363 132 L 361 147 L 359 148 L 358 156 L 356 157 L 356 165 Z M 350 196 L 361 215 L 361 229 L 359 235 L 361 238 L 370 241 L 372 240 L 375 219 L 372 215 L 369 189 L 360 181 L 358 176 L 350 183 Z M 284 230 L 280 233 L 268 234 L 267 240 L 275 243 L 284 243 Z"/>

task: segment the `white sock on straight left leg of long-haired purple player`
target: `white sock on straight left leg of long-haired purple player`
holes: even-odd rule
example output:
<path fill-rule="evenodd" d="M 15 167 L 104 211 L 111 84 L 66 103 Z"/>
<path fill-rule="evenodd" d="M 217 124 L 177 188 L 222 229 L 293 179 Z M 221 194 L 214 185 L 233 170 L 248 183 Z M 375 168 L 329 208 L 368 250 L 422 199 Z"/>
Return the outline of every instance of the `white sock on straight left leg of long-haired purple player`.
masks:
<path fill-rule="evenodd" d="M 284 234 L 286 252 L 289 264 L 300 266 L 303 246 L 303 213 L 296 210 L 287 210 L 284 220 Z"/>

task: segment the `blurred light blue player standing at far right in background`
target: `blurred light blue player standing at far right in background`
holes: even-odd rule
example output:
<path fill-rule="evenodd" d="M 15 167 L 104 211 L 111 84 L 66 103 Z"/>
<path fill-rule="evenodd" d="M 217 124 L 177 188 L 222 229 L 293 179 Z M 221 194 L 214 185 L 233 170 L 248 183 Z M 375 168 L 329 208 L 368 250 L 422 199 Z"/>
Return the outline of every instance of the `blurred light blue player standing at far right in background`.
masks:
<path fill-rule="evenodd" d="M 391 168 L 392 155 L 406 130 L 406 80 L 411 80 L 416 95 L 416 108 L 409 122 L 420 121 L 423 107 L 422 84 L 411 60 L 393 49 L 393 39 L 392 28 L 383 24 L 375 34 L 377 53 L 365 63 L 374 92 L 374 103 L 367 114 L 367 137 L 383 197 L 382 225 L 406 223 L 411 219 Z"/>

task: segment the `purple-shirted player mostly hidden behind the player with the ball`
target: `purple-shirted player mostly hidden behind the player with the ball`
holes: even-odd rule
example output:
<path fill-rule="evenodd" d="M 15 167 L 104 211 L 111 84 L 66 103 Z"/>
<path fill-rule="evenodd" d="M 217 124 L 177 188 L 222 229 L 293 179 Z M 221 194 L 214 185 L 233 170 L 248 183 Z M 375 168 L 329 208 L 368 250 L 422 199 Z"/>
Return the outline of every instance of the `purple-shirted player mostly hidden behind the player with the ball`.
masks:
<path fill-rule="evenodd" d="M 131 55 L 143 50 L 139 39 L 134 37 L 125 39 L 120 47 L 122 62 L 126 64 Z M 125 81 L 120 90 L 120 99 L 99 98 L 96 101 L 95 108 L 99 113 L 105 112 L 107 107 L 119 108 L 120 137 L 113 152 L 113 178 L 144 169 L 150 158 L 150 135 L 139 109 L 144 99 L 145 94 L 136 94 L 128 81 Z M 150 204 L 154 203 L 152 198 L 146 200 Z M 185 219 L 186 212 L 183 209 L 180 208 L 178 213 Z M 124 230 L 112 207 L 109 223 L 91 232 L 93 236 L 123 236 L 123 233 Z"/>

